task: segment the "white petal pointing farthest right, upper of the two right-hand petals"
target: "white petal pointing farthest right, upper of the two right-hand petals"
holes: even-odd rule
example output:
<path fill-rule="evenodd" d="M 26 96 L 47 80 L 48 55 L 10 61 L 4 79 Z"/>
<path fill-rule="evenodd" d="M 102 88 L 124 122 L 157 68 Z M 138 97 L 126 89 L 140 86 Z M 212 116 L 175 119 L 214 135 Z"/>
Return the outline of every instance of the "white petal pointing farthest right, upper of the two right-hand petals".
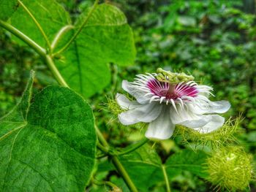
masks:
<path fill-rule="evenodd" d="M 230 109 L 229 101 L 197 101 L 195 111 L 199 114 L 203 113 L 224 113 Z"/>

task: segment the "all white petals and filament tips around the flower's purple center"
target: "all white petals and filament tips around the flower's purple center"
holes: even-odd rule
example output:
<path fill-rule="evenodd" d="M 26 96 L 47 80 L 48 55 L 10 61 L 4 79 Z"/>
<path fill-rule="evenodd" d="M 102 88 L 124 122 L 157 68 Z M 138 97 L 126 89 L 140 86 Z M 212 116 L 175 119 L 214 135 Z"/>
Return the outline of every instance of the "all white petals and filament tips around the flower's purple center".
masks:
<path fill-rule="evenodd" d="M 211 87 L 197 85 L 194 81 L 186 82 L 186 85 L 196 88 L 197 96 L 184 95 L 177 99 L 167 99 L 151 93 L 147 83 L 152 79 L 155 79 L 155 74 L 139 74 L 135 82 L 123 80 L 122 88 L 136 100 L 130 101 L 123 94 L 116 94 L 118 105 L 126 110 L 118 115 L 122 124 L 149 123 L 146 131 L 148 139 L 170 138 L 176 124 L 201 133 L 214 131 L 224 124 L 225 118 L 215 113 L 227 112 L 230 103 L 210 101 L 208 97 L 211 95 Z"/>

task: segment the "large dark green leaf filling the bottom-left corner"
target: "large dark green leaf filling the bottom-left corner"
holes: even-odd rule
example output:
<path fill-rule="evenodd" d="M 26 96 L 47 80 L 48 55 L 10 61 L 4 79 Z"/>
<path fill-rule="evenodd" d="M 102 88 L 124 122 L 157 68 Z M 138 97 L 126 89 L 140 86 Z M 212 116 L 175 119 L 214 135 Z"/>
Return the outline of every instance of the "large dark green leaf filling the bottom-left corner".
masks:
<path fill-rule="evenodd" d="M 95 161 L 89 104 L 48 86 L 31 103 L 33 74 L 20 103 L 0 119 L 1 191 L 84 191 Z"/>

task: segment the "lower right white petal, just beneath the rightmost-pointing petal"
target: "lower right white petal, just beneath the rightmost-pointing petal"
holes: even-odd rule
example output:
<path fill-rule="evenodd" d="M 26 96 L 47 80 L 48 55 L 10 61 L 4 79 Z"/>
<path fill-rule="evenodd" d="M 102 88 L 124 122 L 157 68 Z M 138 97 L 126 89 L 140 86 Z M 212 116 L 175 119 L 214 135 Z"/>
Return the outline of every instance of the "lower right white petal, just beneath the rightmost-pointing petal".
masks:
<path fill-rule="evenodd" d="M 211 121 L 206 123 L 205 126 L 200 128 L 194 128 L 194 129 L 199 131 L 200 133 L 207 134 L 223 126 L 224 122 L 225 122 L 225 118 L 223 118 L 222 116 L 211 115 Z"/>

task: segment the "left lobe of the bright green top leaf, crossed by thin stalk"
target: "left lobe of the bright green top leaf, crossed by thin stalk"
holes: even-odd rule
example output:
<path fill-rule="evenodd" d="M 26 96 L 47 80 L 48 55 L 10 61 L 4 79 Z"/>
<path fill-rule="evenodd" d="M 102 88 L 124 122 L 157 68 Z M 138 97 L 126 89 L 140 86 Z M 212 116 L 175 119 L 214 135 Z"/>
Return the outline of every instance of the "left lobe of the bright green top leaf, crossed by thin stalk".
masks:
<path fill-rule="evenodd" d="M 61 28 L 71 23 L 68 13 L 54 0 L 23 0 L 22 2 L 42 27 L 49 42 L 53 42 Z M 46 47 L 42 33 L 21 5 L 12 15 L 11 23 L 12 26 L 18 28 L 19 31 L 37 42 L 38 45 Z"/>

